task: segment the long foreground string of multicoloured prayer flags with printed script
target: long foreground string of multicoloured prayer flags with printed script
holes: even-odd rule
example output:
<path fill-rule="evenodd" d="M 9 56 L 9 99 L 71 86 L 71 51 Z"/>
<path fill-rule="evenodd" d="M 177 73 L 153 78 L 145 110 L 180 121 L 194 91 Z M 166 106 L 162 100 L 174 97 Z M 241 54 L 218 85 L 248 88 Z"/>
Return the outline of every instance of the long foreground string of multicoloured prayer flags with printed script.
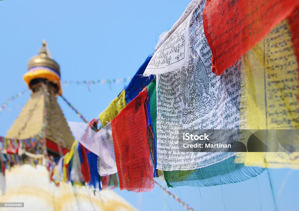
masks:
<path fill-rule="evenodd" d="M 85 123 L 69 123 L 78 141 L 57 167 L 48 163 L 52 180 L 98 189 L 100 183 L 107 188 L 119 181 L 121 190 L 144 192 L 152 190 L 156 169 L 168 186 L 229 184 L 264 168 L 299 169 L 299 154 L 288 151 L 287 141 L 267 137 L 283 152 L 251 152 L 247 142 L 257 130 L 299 129 L 298 8 L 297 0 L 192 1 L 100 113 L 100 131 L 61 96 Z M 151 74 L 157 77 L 142 77 Z M 247 129 L 249 134 L 229 139 L 241 138 L 248 153 L 182 151 L 182 131 L 196 129 Z M 6 155 L 0 152 L 1 171 L 19 162 L 20 146 L 37 145 L 28 139 L 0 137 L 0 142 L 7 149 Z"/>

